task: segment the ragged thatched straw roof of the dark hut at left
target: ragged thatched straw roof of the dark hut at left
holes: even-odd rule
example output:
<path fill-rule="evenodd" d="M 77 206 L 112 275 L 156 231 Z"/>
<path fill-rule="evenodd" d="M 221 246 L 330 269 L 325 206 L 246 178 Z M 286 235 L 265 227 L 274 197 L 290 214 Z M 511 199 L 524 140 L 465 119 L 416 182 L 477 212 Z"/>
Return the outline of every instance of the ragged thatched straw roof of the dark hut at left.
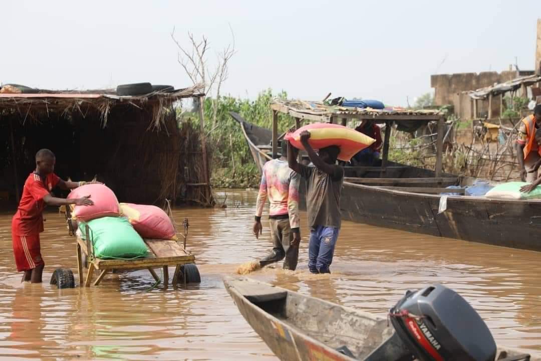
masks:
<path fill-rule="evenodd" d="M 189 97 L 204 96 L 203 84 L 179 89 L 170 93 L 156 91 L 146 95 L 118 96 L 114 89 L 97 90 L 40 90 L 36 94 L 0 93 L 0 116 L 6 112 L 18 112 L 23 122 L 31 118 L 49 116 L 50 110 L 61 111 L 62 114 L 78 112 L 83 115 L 97 111 L 102 124 L 107 124 L 109 111 L 116 106 L 132 106 L 139 109 L 150 109 L 153 112 L 152 122 L 160 126 L 165 107 Z"/>

